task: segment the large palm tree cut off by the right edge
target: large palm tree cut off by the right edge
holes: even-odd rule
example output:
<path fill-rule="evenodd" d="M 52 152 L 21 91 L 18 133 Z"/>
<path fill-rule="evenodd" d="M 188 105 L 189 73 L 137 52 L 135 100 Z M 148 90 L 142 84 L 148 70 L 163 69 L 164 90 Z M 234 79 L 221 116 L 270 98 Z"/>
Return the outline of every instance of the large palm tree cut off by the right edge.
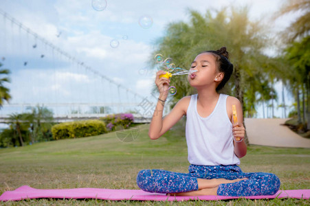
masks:
<path fill-rule="evenodd" d="M 285 80 L 291 82 L 291 93 L 296 96 L 298 103 L 298 122 L 305 125 L 307 113 L 306 130 L 310 129 L 310 0 L 287 0 L 287 3 L 276 14 L 276 18 L 288 13 L 301 14 L 294 23 L 291 23 L 283 31 L 284 40 L 289 43 L 285 48 L 285 59 L 288 60 L 291 72 L 294 75 Z M 297 81 L 297 82 L 296 82 Z M 302 93 L 302 116 L 300 113 L 300 92 Z M 307 106 L 305 104 L 307 101 Z"/>

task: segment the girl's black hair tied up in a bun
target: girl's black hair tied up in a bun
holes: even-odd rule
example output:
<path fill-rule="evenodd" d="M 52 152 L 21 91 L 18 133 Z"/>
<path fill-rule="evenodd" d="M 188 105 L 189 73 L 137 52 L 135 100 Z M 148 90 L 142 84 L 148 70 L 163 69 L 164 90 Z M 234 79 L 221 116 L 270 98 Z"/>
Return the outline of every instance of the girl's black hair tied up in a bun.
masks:
<path fill-rule="evenodd" d="M 232 76 L 232 71 L 234 69 L 234 65 L 232 65 L 230 60 L 228 60 L 229 54 L 226 51 L 226 47 L 221 47 L 221 49 L 216 50 L 216 51 L 210 50 L 210 51 L 201 52 L 200 54 L 203 54 L 203 53 L 213 54 L 213 56 L 216 58 L 217 69 L 219 69 L 219 72 L 224 73 L 223 80 L 219 83 L 219 85 L 217 85 L 216 90 L 218 92 L 221 89 L 223 89 L 226 82 L 228 82 L 228 80 L 230 80 L 230 76 Z"/>

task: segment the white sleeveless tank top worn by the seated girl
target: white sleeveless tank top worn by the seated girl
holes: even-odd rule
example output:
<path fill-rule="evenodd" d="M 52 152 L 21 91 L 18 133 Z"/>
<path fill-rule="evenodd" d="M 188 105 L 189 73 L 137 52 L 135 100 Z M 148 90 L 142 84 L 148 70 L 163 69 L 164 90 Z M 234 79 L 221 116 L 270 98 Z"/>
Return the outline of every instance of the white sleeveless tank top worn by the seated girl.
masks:
<path fill-rule="evenodd" d="M 240 160 L 234 154 L 232 123 L 227 115 L 228 95 L 219 95 L 214 111 L 208 117 L 197 112 L 197 94 L 192 95 L 186 114 L 188 161 L 193 165 L 234 165 Z"/>

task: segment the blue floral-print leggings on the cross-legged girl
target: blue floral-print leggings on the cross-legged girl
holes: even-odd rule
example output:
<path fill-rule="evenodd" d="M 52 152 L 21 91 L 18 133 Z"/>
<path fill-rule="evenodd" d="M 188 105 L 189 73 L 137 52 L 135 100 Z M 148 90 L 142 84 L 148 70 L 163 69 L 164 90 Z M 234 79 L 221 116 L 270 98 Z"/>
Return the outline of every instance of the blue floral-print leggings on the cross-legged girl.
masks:
<path fill-rule="evenodd" d="M 273 195 L 278 192 L 280 180 L 271 173 L 245 173 L 237 165 L 190 165 L 189 173 L 166 170 L 141 170 L 137 174 L 137 185 L 146 192 L 177 193 L 198 190 L 197 179 L 241 179 L 236 183 L 221 184 L 217 195 L 258 196 Z"/>

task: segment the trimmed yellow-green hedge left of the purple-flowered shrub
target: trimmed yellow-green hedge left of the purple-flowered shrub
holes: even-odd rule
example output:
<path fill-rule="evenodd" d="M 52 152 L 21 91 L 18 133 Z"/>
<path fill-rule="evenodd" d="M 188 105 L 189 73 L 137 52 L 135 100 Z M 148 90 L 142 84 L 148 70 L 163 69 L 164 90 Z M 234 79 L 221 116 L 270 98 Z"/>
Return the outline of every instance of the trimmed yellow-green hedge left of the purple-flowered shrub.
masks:
<path fill-rule="evenodd" d="M 107 132 L 104 122 L 100 120 L 85 120 L 65 122 L 52 126 L 53 139 L 89 137 Z"/>

